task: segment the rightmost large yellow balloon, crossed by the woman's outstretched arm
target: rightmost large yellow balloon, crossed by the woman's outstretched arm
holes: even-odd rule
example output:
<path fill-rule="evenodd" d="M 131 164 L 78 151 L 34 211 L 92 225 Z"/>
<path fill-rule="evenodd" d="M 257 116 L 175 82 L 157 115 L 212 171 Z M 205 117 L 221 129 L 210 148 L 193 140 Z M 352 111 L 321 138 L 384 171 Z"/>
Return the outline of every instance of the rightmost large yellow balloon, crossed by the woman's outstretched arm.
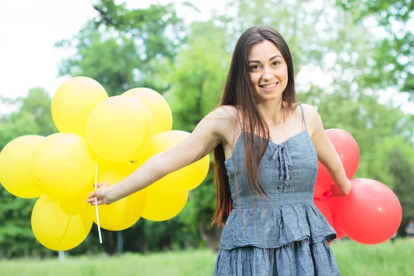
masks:
<path fill-rule="evenodd" d="M 150 154 L 164 152 L 180 141 L 186 139 L 190 133 L 181 130 L 172 130 L 155 135 L 152 139 Z M 153 184 L 157 188 L 170 191 L 193 190 L 201 184 L 207 176 L 210 167 L 210 157 L 205 156 L 199 161 L 166 175 Z"/>

